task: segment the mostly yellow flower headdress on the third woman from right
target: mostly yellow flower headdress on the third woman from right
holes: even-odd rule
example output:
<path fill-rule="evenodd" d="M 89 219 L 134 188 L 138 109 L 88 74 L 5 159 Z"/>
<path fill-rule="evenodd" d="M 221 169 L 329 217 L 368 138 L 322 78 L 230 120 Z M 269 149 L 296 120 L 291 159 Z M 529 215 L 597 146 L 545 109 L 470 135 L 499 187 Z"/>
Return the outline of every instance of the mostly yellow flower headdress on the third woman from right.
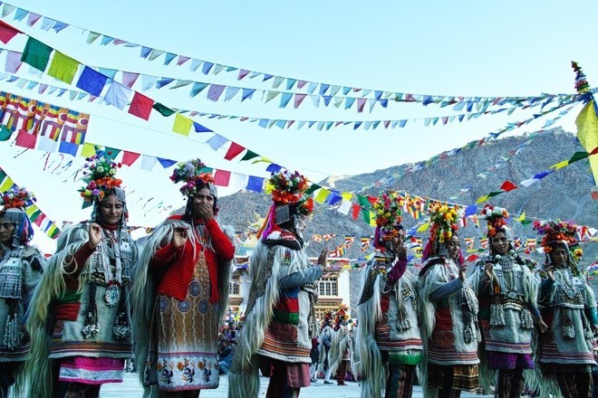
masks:
<path fill-rule="evenodd" d="M 430 204 L 429 214 L 429 240 L 424 248 L 422 259 L 427 260 L 432 255 L 439 255 L 445 242 L 458 231 L 455 223 L 460 217 L 460 210 L 449 204 Z"/>

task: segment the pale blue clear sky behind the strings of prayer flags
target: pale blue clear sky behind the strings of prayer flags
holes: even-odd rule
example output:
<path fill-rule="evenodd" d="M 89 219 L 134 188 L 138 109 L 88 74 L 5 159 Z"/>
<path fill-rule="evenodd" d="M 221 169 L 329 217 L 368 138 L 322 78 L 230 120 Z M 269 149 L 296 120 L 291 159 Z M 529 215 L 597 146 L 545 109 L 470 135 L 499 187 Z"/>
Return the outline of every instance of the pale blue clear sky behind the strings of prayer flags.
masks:
<path fill-rule="evenodd" d="M 598 30 L 584 15 L 595 14 L 596 2 L 565 5 L 556 1 L 501 2 L 205 2 L 205 1 L 21 1 L 24 8 L 80 28 L 110 35 L 131 43 L 187 55 L 199 60 L 262 71 L 306 81 L 318 81 L 371 90 L 387 90 L 454 96 L 535 96 L 540 93 L 574 93 L 570 63 L 579 62 L 593 86 L 598 76 L 598 57 L 593 53 Z M 119 71 L 206 81 L 247 88 L 266 89 L 268 81 L 237 81 L 235 73 L 204 75 L 141 60 L 139 48 L 85 43 L 86 34 L 76 28 L 61 33 L 44 32 L 14 22 L 14 12 L 1 18 L 72 58 L 90 66 Z M 23 35 L 22 35 L 23 36 Z M 16 37 L 3 48 L 22 51 L 25 37 Z M 0 70 L 4 63 L 0 56 Z M 68 88 L 53 78 L 38 78 L 24 65 L 19 76 Z M 598 79 L 598 77 L 596 78 Z M 148 122 L 118 109 L 66 98 L 38 95 L 0 81 L 0 90 L 44 100 L 91 115 L 86 141 L 120 147 L 152 156 L 186 160 L 200 157 L 208 166 L 235 173 L 267 176 L 265 163 L 229 162 L 226 148 L 214 152 L 205 141 L 211 135 L 191 132 L 189 137 L 170 131 L 172 120 L 153 115 Z M 314 107 L 306 99 L 299 109 L 278 108 L 279 100 L 265 103 L 256 96 L 241 102 L 190 98 L 188 89 L 150 90 L 150 98 L 167 106 L 198 111 L 248 116 L 307 120 L 385 120 L 451 115 L 448 108 L 391 103 L 358 113 L 352 109 Z M 367 108 L 367 107 L 366 107 Z M 577 109 L 581 109 L 578 107 Z M 574 131 L 573 110 L 557 125 Z M 357 175 L 425 160 L 505 126 L 530 113 L 484 116 L 448 126 L 425 127 L 408 123 L 406 128 L 328 131 L 259 128 L 238 120 L 194 118 L 236 143 L 276 164 L 297 169 L 312 181 L 329 175 Z M 523 134 L 542 127 L 542 121 L 517 129 Z M 0 143 L 0 166 L 18 185 L 34 191 L 37 204 L 51 219 L 81 221 L 89 209 L 80 210 L 76 190 L 82 182 L 74 175 L 83 159 L 46 156 Z M 546 165 L 550 166 L 550 165 Z M 170 169 L 123 167 L 121 178 L 129 193 L 130 224 L 153 226 L 167 213 L 155 204 L 184 204 L 178 187 L 169 182 Z M 221 189 L 221 194 L 230 194 Z M 154 198 L 152 201 L 149 198 Z M 41 233 L 37 233 L 41 235 Z M 38 243 L 52 242 L 38 237 Z"/>

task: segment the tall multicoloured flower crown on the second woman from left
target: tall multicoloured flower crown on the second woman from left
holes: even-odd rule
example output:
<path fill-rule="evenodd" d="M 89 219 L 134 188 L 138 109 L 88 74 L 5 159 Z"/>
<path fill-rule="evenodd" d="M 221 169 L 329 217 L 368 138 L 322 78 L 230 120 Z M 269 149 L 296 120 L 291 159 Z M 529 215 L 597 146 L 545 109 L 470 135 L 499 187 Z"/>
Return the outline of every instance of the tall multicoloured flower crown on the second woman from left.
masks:
<path fill-rule="evenodd" d="M 110 153 L 95 147 L 95 155 L 87 157 L 83 170 L 83 182 L 87 183 L 79 189 L 83 200 L 87 203 L 101 202 L 112 188 L 120 187 L 122 180 L 114 178 L 122 165 L 114 162 Z M 85 204 L 83 204 L 85 206 Z"/>

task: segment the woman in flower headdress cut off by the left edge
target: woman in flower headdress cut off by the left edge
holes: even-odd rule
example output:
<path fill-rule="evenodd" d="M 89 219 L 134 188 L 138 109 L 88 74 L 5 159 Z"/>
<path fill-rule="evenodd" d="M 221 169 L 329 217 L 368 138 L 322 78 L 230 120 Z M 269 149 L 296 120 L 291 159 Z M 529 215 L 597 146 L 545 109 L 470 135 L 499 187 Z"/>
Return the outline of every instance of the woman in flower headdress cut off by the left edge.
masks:
<path fill-rule="evenodd" d="M 13 385 L 14 396 L 23 393 L 22 371 L 30 346 L 25 313 L 45 267 L 42 253 L 29 245 L 34 230 L 24 206 L 31 200 L 24 188 L 0 195 L 0 398 L 6 398 Z"/>

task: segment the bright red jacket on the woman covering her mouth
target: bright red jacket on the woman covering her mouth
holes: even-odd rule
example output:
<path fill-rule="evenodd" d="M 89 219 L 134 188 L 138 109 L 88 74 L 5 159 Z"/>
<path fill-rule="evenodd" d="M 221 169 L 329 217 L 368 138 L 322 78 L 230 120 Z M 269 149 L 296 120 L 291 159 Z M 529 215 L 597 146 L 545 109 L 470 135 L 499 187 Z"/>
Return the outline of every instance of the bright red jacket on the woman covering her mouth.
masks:
<path fill-rule="evenodd" d="M 170 220 L 180 220 L 181 215 L 170 216 Z M 207 270 L 211 285 L 210 303 L 217 303 L 220 299 L 218 292 L 218 263 L 220 261 L 231 261 L 235 257 L 235 246 L 227 238 L 227 235 L 220 230 L 218 223 L 212 219 L 206 223 L 207 232 L 212 241 L 214 251 L 206 249 Z M 184 247 L 176 249 L 169 242 L 166 246 L 160 248 L 154 253 L 150 261 L 150 267 L 167 266 L 162 279 L 159 282 L 158 293 L 166 294 L 175 299 L 184 300 L 187 297 L 188 285 L 193 278 L 193 269 L 198 259 L 198 253 L 202 250 L 199 242 L 196 242 L 195 252 L 190 240 Z"/>

